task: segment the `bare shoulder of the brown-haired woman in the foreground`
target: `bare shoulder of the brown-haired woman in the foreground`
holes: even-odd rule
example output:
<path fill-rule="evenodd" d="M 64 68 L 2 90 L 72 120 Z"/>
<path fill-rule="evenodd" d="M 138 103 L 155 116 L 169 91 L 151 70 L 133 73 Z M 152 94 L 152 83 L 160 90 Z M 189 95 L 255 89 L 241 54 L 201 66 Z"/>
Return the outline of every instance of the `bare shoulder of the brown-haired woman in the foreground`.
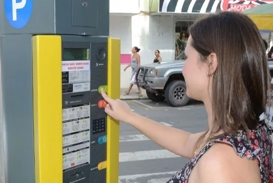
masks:
<path fill-rule="evenodd" d="M 225 143 L 213 144 L 196 166 L 199 183 L 261 183 L 257 162 Z"/>

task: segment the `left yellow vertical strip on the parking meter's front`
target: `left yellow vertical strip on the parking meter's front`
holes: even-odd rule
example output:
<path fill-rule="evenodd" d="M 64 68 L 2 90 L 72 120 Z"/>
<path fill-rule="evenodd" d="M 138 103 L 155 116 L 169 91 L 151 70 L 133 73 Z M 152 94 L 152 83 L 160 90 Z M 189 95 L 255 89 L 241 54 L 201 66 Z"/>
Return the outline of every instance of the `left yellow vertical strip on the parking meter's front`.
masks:
<path fill-rule="evenodd" d="M 61 36 L 33 36 L 35 183 L 62 183 Z"/>

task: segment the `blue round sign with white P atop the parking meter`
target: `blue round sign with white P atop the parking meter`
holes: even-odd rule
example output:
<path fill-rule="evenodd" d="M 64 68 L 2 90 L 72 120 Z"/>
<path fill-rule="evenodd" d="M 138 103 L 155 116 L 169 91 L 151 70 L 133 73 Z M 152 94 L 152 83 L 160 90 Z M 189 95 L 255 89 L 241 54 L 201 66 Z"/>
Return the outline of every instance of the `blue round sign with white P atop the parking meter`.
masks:
<path fill-rule="evenodd" d="M 30 19 L 32 4 L 33 0 L 5 0 L 5 16 L 9 24 L 16 29 L 24 27 Z"/>

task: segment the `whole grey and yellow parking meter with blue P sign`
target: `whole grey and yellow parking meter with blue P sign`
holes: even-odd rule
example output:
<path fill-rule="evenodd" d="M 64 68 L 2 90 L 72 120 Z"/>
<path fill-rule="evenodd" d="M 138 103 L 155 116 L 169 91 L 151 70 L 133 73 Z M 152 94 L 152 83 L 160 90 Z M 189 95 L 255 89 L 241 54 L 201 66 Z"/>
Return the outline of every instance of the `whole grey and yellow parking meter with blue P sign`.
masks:
<path fill-rule="evenodd" d="M 101 88 L 120 97 L 109 0 L 0 0 L 0 183 L 118 183 Z"/>

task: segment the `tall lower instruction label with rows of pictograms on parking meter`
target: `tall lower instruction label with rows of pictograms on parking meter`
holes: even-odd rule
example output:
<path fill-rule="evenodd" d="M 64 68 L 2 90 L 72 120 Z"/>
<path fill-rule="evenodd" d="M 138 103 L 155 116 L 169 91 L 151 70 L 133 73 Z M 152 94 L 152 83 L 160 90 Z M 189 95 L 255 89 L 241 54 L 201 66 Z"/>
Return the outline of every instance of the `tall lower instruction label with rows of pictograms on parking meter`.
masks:
<path fill-rule="evenodd" d="M 63 108 L 63 171 L 90 163 L 90 104 Z"/>

